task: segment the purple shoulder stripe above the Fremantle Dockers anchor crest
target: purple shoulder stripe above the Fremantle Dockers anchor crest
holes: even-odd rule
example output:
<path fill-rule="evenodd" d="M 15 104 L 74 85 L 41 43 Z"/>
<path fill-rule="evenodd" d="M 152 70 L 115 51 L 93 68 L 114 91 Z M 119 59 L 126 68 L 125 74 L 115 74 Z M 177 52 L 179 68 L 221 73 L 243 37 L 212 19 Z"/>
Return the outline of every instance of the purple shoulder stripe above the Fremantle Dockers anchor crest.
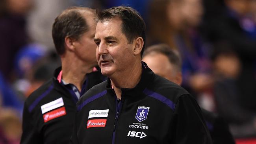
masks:
<path fill-rule="evenodd" d="M 165 96 L 162 96 L 161 94 L 158 94 L 156 92 L 152 92 L 148 89 L 145 89 L 144 94 L 146 94 L 147 96 L 150 96 L 152 98 L 155 98 L 157 100 L 160 100 L 162 103 L 164 103 L 165 105 L 167 105 L 168 107 L 171 107 L 171 109 L 174 110 L 175 108 L 175 103 L 173 103 L 171 100 L 169 100 L 168 98 L 166 98 Z"/>

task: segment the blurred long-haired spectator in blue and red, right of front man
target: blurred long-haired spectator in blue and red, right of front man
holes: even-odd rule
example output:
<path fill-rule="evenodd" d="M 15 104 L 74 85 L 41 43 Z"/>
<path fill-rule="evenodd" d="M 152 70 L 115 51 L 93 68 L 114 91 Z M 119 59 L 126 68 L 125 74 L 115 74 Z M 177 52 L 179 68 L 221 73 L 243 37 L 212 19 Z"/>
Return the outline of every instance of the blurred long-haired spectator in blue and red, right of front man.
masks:
<path fill-rule="evenodd" d="M 150 43 L 163 42 L 180 52 L 182 87 L 213 111 L 211 47 L 197 30 L 204 13 L 202 0 L 154 0 L 149 9 Z"/>

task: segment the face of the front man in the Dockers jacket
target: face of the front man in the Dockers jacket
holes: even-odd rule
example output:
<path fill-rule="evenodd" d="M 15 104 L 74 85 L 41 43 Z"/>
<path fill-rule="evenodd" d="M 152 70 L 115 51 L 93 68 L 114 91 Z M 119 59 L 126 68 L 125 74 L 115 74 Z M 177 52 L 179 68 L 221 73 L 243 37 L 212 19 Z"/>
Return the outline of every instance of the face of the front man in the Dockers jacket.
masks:
<path fill-rule="evenodd" d="M 128 44 L 126 36 L 121 31 L 122 21 L 111 18 L 98 22 L 95 33 L 96 59 L 105 76 L 124 74 L 132 68 L 134 56 L 134 42 Z"/>

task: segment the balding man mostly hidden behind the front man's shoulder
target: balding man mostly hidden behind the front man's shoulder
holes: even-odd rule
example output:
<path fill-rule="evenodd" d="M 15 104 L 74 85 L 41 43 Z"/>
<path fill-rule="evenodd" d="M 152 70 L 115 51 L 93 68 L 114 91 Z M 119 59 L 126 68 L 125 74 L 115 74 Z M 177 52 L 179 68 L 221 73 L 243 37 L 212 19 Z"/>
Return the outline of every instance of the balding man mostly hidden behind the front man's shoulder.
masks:
<path fill-rule="evenodd" d="M 142 61 L 152 71 L 169 81 L 181 85 L 181 58 L 177 51 L 166 44 L 156 44 L 145 50 Z M 202 109 L 202 114 L 211 133 L 213 144 L 235 144 L 226 122 L 219 115 Z"/>

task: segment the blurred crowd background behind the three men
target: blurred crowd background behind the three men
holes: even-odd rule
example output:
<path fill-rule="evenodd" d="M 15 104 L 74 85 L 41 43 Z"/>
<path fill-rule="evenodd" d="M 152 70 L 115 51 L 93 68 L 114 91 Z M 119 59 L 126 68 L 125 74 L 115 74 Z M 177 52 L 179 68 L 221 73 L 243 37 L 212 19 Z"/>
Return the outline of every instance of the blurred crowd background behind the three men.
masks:
<path fill-rule="evenodd" d="M 24 100 L 60 65 L 54 19 L 67 7 L 131 6 L 147 24 L 146 46 L 182 57 L 182 87 L 256 138 L 256 0 L 0 0 L 0 144 L 18 144 Z"/>

